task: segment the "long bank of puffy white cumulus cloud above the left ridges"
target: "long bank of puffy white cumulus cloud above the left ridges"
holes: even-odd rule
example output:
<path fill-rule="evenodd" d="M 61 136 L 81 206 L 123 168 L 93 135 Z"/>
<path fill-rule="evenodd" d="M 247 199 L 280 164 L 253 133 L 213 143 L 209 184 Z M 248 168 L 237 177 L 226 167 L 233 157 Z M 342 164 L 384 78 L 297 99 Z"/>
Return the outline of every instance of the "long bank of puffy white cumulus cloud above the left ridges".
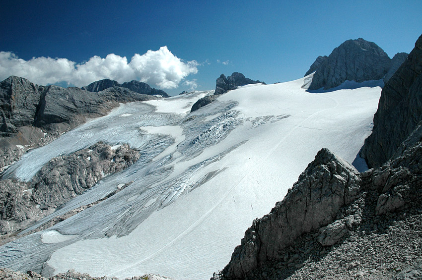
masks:
<path fill-rule="evenodd" d="M 0 52 L 0 80 L 10 75 L 26 78 L 40 85 L 67 82 L 78 87 L 101 79 L 120 83 L 139 80 L 163 89 L 176 88 L 190 74 L 198 73 L 197 61 L 184 61 L 166 46 L 158 51 L 135 54 L 128 62 L 126 56 L 109 54 L 93 56 L 76 64 L 67 58 L 33 57 L 24 60 L 11 52 Z"/>

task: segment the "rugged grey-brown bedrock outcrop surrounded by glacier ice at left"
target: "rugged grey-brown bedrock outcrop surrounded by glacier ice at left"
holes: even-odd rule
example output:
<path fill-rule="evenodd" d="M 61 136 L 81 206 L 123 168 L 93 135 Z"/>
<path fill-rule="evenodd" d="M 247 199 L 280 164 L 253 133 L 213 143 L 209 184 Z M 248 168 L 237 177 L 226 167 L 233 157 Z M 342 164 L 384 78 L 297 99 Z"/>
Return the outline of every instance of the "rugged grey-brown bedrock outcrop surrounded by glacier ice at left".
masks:
<path fill-rule="evenodd" d="M 57 207 L 121 171 L 140 158 L 122 145 L 97 143 L 73 154 L 53 158 L 28 183 L 0 181 L 0 234 L 12 234 L 53 213 Z"/>

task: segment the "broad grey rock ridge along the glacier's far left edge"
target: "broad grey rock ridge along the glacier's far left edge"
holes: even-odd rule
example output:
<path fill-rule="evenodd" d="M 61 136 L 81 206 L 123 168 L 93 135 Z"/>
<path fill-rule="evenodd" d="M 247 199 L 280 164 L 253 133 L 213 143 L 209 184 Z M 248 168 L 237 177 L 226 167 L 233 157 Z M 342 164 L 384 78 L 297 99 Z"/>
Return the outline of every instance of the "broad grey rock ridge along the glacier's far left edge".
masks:
<path fill-rule="evenodd" d="M 16 161 L 27 149 L 45 145 L 84 123 L 86 118 L 107 114 L 119 103 L 155 98 L 121 87 L 92 93 L 75 87 L 38 86 L 10 76 L 0 82 L 0 168 Z"/>

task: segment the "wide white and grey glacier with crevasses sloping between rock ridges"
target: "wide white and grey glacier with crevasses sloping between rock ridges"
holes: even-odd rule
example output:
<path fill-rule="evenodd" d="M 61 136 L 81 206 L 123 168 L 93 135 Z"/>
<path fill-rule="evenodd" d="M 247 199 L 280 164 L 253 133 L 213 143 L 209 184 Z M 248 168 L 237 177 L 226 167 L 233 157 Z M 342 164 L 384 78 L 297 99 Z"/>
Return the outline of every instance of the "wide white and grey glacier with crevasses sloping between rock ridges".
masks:
<path fill-rule="evenodd" d="M 128 143 L 141 158 L 27 230 L 133 181 L 122 191 L 1 246 L 0 267 L 46 276 L 73 268 L 91 276 L 210 279 L 321 148 L 365 168 L 356 155 L 381 88 L 309 93 L 304 80 L 244 86 L 193 113 L 213 91 L 122 104 L 25 154 L 7 176 L 28 181 L 51 158 L 98 141 Z"/>

